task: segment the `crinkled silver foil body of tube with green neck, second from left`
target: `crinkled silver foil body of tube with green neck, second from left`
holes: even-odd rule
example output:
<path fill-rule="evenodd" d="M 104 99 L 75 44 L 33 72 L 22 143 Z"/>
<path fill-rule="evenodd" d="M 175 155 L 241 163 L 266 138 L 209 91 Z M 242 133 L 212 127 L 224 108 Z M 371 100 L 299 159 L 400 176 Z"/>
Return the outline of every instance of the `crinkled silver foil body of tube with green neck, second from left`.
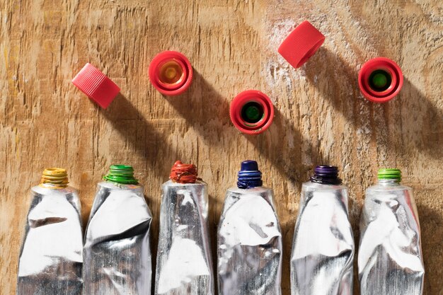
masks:
<path fill-rule="evenodd" d="M 98 184 L 85 236 L 85 295 L 150 294 L 151 219 L 142 186 Z"/>

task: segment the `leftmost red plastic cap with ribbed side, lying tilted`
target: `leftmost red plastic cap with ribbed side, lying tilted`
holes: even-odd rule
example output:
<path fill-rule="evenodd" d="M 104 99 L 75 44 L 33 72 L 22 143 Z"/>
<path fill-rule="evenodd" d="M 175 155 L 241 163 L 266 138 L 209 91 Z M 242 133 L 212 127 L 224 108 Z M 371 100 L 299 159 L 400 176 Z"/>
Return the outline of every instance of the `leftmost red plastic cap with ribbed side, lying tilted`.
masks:
<path fill-rule="evenodd" d="M 76 74 L 72 83 L 102 108 L 108 108 L 120 92 L 117 84 L 89 63 Z"/>

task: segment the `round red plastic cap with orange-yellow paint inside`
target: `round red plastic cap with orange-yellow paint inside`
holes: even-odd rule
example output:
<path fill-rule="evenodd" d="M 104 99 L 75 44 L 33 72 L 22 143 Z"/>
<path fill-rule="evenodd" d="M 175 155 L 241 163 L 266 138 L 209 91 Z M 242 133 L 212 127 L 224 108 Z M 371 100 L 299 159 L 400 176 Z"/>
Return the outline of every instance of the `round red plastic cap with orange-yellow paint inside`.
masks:
<path fill-rule="evenodd" d="M 180 52 L 163 51 L 149 64 L 149 80 L 165 96 L 178 96 L 192 82 L 192 66 Z"/>

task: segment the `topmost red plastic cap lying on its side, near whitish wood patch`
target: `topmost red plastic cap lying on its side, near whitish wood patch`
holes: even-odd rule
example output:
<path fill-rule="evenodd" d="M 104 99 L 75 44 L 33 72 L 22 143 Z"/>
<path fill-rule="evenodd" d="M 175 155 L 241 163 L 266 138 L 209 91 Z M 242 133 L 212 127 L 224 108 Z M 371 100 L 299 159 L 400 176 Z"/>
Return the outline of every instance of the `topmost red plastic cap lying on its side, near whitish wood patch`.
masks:
<path fill-rule="evenodd" d="M 299 68 L 316 53 L 324 41 L 325 36 L 309 21 L 304 21 L 284 39 L 278 52 L 294 68 Z"/>

